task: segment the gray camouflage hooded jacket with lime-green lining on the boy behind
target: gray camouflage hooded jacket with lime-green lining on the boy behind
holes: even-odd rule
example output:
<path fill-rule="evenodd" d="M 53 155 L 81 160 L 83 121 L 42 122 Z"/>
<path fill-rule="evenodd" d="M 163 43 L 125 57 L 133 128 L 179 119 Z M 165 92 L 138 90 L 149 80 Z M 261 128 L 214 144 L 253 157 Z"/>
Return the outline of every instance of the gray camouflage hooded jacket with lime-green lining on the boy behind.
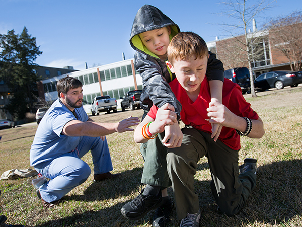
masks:
<path fill-rule="evenodd" d="M 142 43 L 138 34 L 163 27 L 171 27 L 170 40 L 180 32 L 179 27 L 158 8 L 150 5 L 142 6 L 132 25 L 130 44 L 137 51 L 134 54 L 135 68 L 142 77 L 143 93 L 140 96 L 140 104 L 144 110 L 149 111 L 152 104 L 157 107 L 170 103 L 180 118 L 181 104 L 175 98 L 169 82 L 175 75 L 168 69 L 165 61 L 150 52 Z M 223 64 L 216 59 L 216 55 L 210 53 L 207 64 L 206 76 L 208 80 L 223 81 Z"/>

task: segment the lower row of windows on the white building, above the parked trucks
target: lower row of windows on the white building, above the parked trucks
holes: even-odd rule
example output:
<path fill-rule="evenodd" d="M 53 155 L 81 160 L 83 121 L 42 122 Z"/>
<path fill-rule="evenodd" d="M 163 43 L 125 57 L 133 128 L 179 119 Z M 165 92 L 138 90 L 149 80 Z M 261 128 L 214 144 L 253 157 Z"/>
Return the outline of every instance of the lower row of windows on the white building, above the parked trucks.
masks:
<path fill-rule="evenodd" d="M 138 90 L 142 90 L 142 85 L 137 86 Z M 126 88 L 120 88 L 120 89 L 115 89 L 115 90 L 109 90 L 109 91 L 104 91 L 103 95 L 109 95 L 111 98 L 116 98 L 119 99 L 120 97 L 123 97 L 128 91 L 135 90 L 135 87 L 126 87 Z M 92 93 L 88 95 L 83 96 L 83 104 L 91 104 L 93 102 L 93 99 L 96 96 L 101 96 L 101 93 Z"/>

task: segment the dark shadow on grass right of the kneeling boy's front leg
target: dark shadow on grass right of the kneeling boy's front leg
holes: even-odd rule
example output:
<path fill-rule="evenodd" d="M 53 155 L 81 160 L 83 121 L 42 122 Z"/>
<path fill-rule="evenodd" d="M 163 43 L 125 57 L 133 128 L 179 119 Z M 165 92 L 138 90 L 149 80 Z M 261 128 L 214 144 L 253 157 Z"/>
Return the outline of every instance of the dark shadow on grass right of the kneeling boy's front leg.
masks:
<path fill-rule="evenodd" d="M 260 226 L 259 223 L 287 226 L 293 219 L 299 219 L 299 222 L 293 221 L 290 226 L 302 226 L 301 179 L 302 160 L 258 167 L 256 188 L 246 206 L 233 217 L 217 211 L 209 182 L 197 181 L 195 189 L 202 213 L 200 226 Z"/>

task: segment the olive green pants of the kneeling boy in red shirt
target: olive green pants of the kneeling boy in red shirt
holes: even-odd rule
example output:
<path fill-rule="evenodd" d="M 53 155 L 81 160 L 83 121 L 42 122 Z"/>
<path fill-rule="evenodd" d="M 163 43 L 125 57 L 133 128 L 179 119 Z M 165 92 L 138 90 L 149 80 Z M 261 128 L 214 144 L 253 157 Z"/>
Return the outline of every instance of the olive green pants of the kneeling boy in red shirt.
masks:
<path fill-rule="evenodd" d="M 212 194 L 219 209 L 226 215 L 239 212 L 256 186 L 256 174 L 248 171 L 239 174 L 238 150 L 191 126 L 182 129 L 181 147 L 168 149 L 167 169 L 172 181 L 178 219 L 187 213 L 197 213 L 198 195 L 194 191 L 197 162 L 208 159 L 212 181 Z"/>

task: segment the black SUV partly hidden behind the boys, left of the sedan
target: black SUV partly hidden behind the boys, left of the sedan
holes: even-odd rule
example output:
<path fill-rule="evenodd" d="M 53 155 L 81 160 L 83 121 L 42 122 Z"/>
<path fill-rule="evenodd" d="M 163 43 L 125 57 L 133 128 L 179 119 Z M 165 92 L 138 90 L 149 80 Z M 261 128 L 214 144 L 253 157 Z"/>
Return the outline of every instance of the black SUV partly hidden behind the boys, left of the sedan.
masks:
<path fill-rule="evenodd" d="M 238 67 L 224 71 L 224 77 L 239 84 L 242 94 L 251 92 L 250 72 L 247 67 Z"/>

